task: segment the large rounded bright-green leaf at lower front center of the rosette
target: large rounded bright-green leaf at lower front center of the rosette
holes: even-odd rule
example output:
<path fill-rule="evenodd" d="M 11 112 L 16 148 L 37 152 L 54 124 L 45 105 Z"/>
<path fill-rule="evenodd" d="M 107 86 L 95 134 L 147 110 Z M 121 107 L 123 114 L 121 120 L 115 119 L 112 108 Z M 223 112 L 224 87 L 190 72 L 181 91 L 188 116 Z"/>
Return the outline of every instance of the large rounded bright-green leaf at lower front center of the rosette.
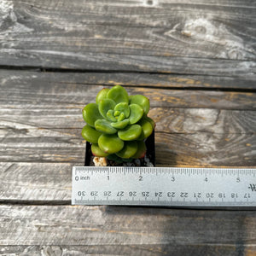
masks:
<path fill-rule="evenodd" d="M 98 144 L 103 152 L 113 154 L 119 152 L 125 143 L 116 134 L 102 134 Z"/>

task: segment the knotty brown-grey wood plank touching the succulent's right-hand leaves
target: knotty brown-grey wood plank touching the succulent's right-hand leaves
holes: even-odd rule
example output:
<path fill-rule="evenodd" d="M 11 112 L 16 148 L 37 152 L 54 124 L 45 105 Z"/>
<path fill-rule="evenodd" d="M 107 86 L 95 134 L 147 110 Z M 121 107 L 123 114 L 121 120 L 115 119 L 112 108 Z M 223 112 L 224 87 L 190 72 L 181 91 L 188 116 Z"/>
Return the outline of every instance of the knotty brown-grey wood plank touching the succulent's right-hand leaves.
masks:
<path fill-rule="evenodd" d="M 255 134 L 256 112 L 211 108 L 152 108 L 156 131 L 166 133 L 207 132 L 216 134 Z"/>

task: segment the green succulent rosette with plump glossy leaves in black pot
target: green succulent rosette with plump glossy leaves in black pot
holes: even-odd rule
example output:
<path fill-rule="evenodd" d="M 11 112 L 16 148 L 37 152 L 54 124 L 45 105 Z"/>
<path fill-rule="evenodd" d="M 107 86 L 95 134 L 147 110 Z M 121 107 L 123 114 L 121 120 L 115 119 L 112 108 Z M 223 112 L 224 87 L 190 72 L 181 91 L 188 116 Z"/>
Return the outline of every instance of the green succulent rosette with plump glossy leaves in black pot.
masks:
<path fill-rule="evenodd" d="M 146 96 L 128 96 L 120 85 L 104 88 L 97 94 L 96 103 L 89 103 L 83 109 L 87 125 L 82 136 L 92 143 L 91 151 L 96 156 L 141 158 L 146 152 L 144 141 L 154 130 L 148 111 Z"/>

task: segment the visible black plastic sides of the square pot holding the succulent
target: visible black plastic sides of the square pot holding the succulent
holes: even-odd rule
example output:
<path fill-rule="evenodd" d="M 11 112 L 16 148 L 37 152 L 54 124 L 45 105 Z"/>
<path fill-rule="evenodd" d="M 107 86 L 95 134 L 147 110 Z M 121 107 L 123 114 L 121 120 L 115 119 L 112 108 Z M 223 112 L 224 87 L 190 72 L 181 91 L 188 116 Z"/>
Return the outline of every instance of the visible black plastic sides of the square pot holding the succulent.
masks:
<path fill-rule="evenodd" d="M 147 138 L 145 143 L 147 147 L 146 156 L 148 157 L 150 162 L 155 166 L 154 131 Z M 84 166 L 90 166 L 90 159 L 92 156 L 90 148 L 91 148 L 91 144 L 86 142 Z"/>

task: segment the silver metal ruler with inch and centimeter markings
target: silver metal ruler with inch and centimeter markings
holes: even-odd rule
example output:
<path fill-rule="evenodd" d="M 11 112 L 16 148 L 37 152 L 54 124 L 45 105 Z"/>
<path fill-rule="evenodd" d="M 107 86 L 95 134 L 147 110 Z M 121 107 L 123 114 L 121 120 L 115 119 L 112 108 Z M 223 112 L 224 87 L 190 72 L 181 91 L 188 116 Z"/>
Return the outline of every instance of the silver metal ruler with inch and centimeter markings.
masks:
<path fill-rule="evenodd" d="M 72 204 L 256 207 L 256 169 L 74 166 Z"/>

